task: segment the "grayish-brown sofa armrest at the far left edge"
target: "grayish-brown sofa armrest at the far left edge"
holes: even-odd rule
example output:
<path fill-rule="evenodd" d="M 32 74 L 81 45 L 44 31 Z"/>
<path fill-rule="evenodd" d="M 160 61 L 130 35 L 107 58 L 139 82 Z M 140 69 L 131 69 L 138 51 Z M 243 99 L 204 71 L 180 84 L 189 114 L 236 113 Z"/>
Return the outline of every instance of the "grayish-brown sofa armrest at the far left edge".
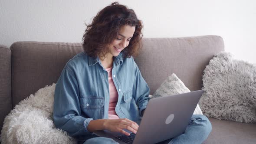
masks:
<path fill-rule="evenodd" d="M 0 45 L 0 129 L 12 108 L 11 102 L 11 51 Z"/>

